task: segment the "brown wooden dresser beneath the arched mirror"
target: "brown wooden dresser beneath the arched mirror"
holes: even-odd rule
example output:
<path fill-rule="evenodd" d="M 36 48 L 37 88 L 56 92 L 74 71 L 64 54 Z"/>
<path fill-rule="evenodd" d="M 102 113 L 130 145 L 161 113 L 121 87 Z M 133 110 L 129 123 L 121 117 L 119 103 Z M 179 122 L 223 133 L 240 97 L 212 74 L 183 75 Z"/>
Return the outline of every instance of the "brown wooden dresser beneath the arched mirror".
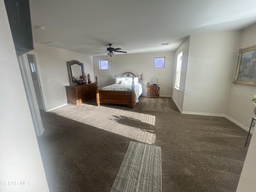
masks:
<path fill-rule="evenodd" d="M 96 97 L 96 83 L 65 86 L 68 104 L 80 105 L 82 102 Z"/>

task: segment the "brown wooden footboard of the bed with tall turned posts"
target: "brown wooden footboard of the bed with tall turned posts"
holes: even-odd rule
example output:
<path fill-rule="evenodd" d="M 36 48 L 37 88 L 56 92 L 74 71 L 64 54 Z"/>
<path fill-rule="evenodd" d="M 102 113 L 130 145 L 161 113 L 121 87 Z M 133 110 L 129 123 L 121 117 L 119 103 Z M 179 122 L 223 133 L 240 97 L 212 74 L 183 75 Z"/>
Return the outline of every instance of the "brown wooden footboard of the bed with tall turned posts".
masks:
<path fill-rule="evenodd" d="M 98 77 L 96 79 L 96 99 L 97 106 L 100 106 L 100 103 L 107 104 L 122 104 L 130 105 L 132 109 L 135 108 L 135 85 L 134 85 L 134 76 L 132 77 L 132 90 L 131 91 L 112 91 L 112 90 L 99 90 L 98 86 Z M 142 75 L 141 75 L 142 80 Z"/>

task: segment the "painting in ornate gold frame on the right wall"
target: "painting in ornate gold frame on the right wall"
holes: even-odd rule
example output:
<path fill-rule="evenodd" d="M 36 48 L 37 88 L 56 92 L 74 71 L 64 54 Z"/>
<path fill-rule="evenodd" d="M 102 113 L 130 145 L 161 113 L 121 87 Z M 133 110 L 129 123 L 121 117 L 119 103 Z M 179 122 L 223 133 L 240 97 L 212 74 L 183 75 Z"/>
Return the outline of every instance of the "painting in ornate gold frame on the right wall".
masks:
<path fill-rule="evenodd" d="M 256 45 L 238 50 L 233 83 L 256 86 Z"/>

